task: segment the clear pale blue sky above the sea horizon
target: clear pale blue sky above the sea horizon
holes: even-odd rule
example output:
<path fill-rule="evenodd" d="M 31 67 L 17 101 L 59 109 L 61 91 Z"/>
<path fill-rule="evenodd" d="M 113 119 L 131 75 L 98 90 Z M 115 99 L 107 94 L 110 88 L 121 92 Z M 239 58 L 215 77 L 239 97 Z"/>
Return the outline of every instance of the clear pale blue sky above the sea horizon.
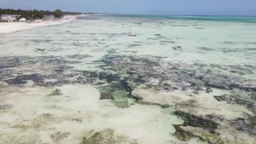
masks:
<path fill-rule="evenodd" d="M 256 0 L 0 0 L 0 8 L 155 15 L 256 16 Z"/>

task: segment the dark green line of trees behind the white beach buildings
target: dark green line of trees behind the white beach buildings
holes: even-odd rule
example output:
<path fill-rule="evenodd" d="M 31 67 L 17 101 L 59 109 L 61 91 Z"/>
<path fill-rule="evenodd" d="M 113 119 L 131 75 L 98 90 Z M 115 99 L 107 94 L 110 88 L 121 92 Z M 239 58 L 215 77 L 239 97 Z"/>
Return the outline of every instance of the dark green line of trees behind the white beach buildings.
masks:
<path fill-rule="evenodd" d="M 2 9 L 0 8 L 0 15 L 1 14 L 17 14 L 21 15 L 21 18 L 26 18 L 27 20 L 36 20 L 36 19 L 43 19 L 43 16 L 46 14 L 52 14 L 56 18 L 60 18 L 61 16 L 65 15 L 79 15 L 82 13 L 74 13 L 74 12 L 62 12 L 61 10 L 55 11 L 42 11 L 42 10 L 13 10 L 13 9 Z"/>

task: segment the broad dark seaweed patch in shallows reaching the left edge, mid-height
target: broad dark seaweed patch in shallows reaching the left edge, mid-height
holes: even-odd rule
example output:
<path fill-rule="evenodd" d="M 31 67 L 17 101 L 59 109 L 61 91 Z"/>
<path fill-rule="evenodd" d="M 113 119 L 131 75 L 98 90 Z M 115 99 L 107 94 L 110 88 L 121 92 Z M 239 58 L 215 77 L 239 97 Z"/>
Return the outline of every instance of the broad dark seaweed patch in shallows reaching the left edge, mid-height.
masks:
<path fill-rule="evenodd" d="M 10 85 L 20 85 L 27 83 L 27 80 L 32 80 L 34 85 L 40 86 L 53 86 L 59 85 L 61 83 L 70 83 L 67 80 L 64 80 L 68 77 L 73 77 L 72 74 L 64 75 L 64 70 L 71 69 L 72 67 L 66 66 L 66 64 L 75 64 L 80 63 L 80 61 L 67 61 L 63 57 L 60 56 L 37 56 L 37 57 L 29 57 L 29 56 L 20 56 L 20 57 L 2 57 L 0 60 L 3 62 L 3 65 L 8 65 L 8 67 L 20 67 L 20 66 L 28 66 L 34 67 L 33 64 L 38 65 L 46 65 L 49 64 L 49 68 L 41 67 L 40 70 L 51 71 L 51 74 L 45 75 L 37 74 L 33 69 L 26 70 L 16 70 L 16 69 L 1 69 L 0 72 L 0 80 L 10 84 Z M 37 66 L 38 66 L 37 65 Z M 24 72 L 30 72 L 31 75 L 24 75 Z M 18 76 L 17 76 L 18 75 Z M 15 78 L 9 78 L 15 77 Z M 9 79 L 8 79 L 9 78 Z M 44 82 L 44 79 L 57 79 L 55 82 Z M 7 79 L 7 80 L 6 80 Z"/>

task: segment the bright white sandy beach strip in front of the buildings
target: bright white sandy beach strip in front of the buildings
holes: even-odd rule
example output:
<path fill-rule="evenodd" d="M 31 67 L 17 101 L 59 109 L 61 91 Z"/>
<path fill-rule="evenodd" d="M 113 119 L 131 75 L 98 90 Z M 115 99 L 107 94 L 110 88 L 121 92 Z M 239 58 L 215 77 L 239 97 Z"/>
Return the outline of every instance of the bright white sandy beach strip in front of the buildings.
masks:
<path fill-rule="evenodd" d="M 10 32 L 16 32 L 25 29 L 31 29 L 35 27 L 63 24 L 69 21 L 74 21 L 77 16 L 64 16 L 59 20 L 46 20 L 46 21 L 33 21 L 32 23 L 27 22 L 10 22 L 10 23 L 0 23 L 0 34 L 6 34 Z"/>

